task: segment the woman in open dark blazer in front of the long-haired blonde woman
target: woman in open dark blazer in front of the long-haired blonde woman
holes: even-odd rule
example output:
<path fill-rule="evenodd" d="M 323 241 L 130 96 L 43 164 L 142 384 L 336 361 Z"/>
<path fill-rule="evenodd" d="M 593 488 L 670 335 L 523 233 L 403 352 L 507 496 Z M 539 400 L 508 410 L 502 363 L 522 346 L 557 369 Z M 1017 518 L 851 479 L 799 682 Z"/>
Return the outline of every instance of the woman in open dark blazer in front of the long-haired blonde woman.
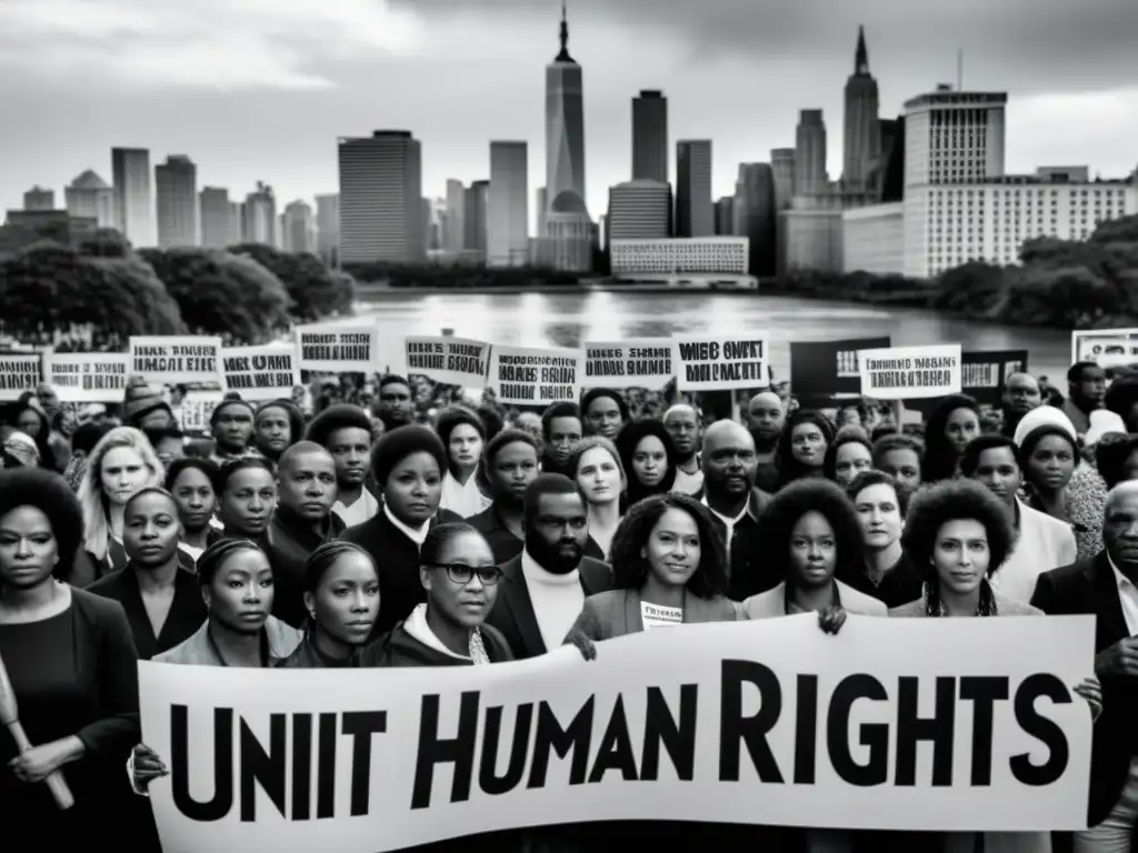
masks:
<path fill-rule="evenodd" d="M 171 494 L 142 489 L 123 515 L 126 566 L 86 588 L 123 605 L 141 661 L 180 645 L 206 621 L 198 581 L 185 571 L 192 561 L 178 547 L 181 533 Z"/>

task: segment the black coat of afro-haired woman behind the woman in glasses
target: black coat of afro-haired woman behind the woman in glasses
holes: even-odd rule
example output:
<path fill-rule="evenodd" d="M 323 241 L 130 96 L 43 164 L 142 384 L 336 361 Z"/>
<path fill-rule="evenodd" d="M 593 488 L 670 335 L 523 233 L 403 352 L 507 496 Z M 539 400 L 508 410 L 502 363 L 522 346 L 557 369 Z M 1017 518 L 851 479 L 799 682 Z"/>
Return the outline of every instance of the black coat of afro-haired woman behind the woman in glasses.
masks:
<path fill-rule="evenodd" d="M 450 521 L 462 519 L 439 510 L 430 520 L 430 527 Z M 379 619 L 371 632 L 372 639 L 378 639 L 406 619 L 417 604 L 427 601 L 427 591 L 419 581 L 419 546 L 395 527 L 382 510 L 376 517 L 345 530 L 340 538 L 371 554 L 379 570 Z"/>

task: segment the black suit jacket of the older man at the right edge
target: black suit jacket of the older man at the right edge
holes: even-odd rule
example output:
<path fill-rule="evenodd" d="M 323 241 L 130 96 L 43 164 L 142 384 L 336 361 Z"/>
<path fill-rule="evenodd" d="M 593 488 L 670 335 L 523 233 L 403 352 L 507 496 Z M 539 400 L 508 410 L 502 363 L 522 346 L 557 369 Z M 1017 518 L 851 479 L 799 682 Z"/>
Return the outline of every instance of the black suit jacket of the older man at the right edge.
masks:
<path fill-rule="evenodd" d="M 1048 615 L 1095 615 L 1096 654 L 1130 636 L 1106 552 L 1040 574 L 1031 603 Z M 1090 752 L 1090 826 L 1111 813 L 1125 787 L 1130 761 L 1138 755 L 1138 679 L 1100 680 L 1103 714 L 1095 723 Z"/>

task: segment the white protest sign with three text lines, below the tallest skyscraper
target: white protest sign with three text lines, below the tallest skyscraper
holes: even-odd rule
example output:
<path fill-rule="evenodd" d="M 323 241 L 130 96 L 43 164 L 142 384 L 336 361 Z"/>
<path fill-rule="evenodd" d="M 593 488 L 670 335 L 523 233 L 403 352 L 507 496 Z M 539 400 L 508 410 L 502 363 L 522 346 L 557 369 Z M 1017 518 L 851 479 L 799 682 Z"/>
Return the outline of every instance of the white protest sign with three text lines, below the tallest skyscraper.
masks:
<path fill-rule="evenodd" d="M 490 353 L 489 387 L 506 405 L 547 406 L 576 400 L 585 354 L 579 349 L 498 347 Z"/>

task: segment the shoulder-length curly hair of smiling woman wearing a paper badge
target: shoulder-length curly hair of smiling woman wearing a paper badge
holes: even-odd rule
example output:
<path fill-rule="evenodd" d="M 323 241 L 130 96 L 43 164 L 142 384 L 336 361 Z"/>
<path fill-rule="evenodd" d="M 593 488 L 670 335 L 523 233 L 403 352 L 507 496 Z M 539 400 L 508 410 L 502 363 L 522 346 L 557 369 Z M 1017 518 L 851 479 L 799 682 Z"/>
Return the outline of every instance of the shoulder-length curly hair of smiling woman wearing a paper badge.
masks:
<path fill-rule="evenodd" d="M 688 495 L 668 492 L 652 495 L 633 504 L 612 536 L 610 562 L 617 589 L 640 589 L 651 568 L 641 553 L 653 528 L 668 510 L 687 513 L 700 536 L 700 563 L 687 581 L 687 590 L 700 598 L 714 598 L 727 589 L 727 553 L 723 537 L 711 515 L 699 500 Z"/>

